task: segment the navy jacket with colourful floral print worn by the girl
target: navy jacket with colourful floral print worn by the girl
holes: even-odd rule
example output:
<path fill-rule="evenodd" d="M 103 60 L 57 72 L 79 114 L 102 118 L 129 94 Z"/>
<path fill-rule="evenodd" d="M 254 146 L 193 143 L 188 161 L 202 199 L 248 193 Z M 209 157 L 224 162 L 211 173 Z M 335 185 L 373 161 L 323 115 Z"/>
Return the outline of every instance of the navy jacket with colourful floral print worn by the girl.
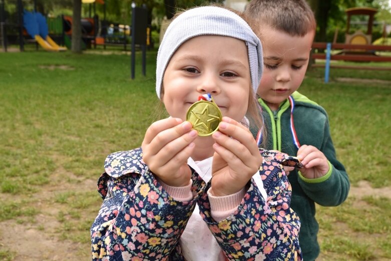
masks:
<path fill-rule="evenodd" d="M 184 260 L 179 239 L 198 204 L 227 260 L 301 260 L 300 221 L 289 207 L 291 187 L 281 165 L 300 163 L 286 154 L 260 153 L 267 202 L 251 180 L 238 208 L 220 222 L 211 217 L 206 193 L 210 182 L 194 170 L 193 199 L 180 202 L 148 169 L 141 148 L 109 155 L 98 180 L 104 201 L 91 227 L 92 259 Z"/>

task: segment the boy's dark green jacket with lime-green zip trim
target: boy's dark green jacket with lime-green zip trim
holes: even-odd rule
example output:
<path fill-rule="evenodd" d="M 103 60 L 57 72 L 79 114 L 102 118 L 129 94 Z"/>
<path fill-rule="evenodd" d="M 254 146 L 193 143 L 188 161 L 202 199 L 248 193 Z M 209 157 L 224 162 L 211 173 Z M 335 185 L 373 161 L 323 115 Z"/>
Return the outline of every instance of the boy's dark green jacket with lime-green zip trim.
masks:
<path fill-rule="evenodd" d="M 290 171 L 288 179 L 292 185 L 291 207 L 301 221 L 299 243 L 305 261 L 314 260 L 319 254 L 317 242 L 318 223 L 315 219 L 315 203 L 322 206 L 337 206 L 347 197 L 349 179 L 345 168 L 336 159 L 330 137 L 328 117 L 325 110 L 304 95 L 294 92 L 294 127 L 300 145 L 312 145 L 322 151 L 329 161 L 330 170 L 323 177 L 307 179 L 296 169 Z M 278 150 L 291 156 L 297 155 L 290 130 L 290 104 L 288 99 L 278 111 L 272 112 L 263 100 L 266 126 L 265 149 Z"/>

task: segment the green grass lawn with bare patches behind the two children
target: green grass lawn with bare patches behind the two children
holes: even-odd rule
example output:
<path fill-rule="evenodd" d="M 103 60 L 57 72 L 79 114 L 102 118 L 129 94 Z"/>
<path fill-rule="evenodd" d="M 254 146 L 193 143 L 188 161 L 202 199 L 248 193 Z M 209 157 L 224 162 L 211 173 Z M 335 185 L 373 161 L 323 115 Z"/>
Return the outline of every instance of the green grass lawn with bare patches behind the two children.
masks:
<path fill-rule="evenodd" d="M 138 147 L 157 107 L 147 76 L 115 51 L 0 53 L 0 260 L 90 260 L 106 155 Z M 388 66 L 391 66 L 388 64 Z M 341 206 L 318 207 L 320 260 L 391 260 L 391 74 L 311 70 L 300 92 L 330 117 L 351 179 Z"/>

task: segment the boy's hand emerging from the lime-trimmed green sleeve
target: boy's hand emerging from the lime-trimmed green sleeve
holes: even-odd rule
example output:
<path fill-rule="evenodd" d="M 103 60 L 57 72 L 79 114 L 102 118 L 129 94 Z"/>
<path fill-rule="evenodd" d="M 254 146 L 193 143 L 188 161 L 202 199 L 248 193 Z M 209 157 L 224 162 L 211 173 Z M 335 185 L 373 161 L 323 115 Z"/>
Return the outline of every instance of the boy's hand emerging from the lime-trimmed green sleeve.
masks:
<path fill-rule="evenodd" d="M 300 172 L 306 178 L 320 178 L 329 170 L 326 156 L 314 146 L 302 145 L 297 151 L 297 158 L 304 166 Z"/>

